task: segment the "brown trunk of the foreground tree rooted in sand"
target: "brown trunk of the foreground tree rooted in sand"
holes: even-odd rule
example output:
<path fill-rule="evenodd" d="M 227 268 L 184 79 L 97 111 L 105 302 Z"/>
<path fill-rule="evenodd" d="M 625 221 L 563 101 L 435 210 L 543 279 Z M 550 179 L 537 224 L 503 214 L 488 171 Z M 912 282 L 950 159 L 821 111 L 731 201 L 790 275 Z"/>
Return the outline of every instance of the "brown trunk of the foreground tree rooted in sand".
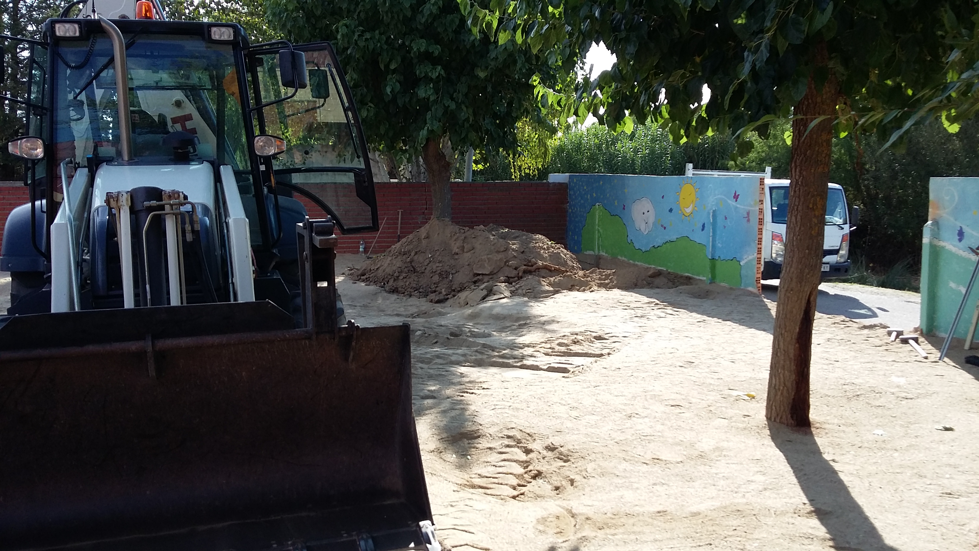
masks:
<path fill-rule="evenodd" d="M 826 46 L 816 46 L 816 66 L 826 66 Z M 825 231 L 826 184 L 833 144 L 832 121 L 839 87 L 830 75 L 822 89 L 812 76 L 795 106 L 789 163 L 789 213 L 785 259 L 771 342 L 769 397 L 765 416 L 787 426 L 810 426 L 809 376 L 816 292 Z M 829 116 L 806 133 L 817 117 Z M 805 136 L 805 137 L 804 137 Z"/>

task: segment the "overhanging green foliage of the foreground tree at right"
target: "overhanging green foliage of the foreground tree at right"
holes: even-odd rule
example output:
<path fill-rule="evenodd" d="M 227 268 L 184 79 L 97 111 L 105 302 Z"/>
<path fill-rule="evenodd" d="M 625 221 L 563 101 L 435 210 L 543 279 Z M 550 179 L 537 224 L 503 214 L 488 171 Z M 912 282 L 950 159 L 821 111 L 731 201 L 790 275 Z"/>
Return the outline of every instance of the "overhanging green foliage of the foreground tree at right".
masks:
<path fill-rule="evenodd" d="M 922 117 L 950 126 L 975 111 L 976 6 L 967 0 L 459 0 L 474 31 L 533 51 L 586 52 L 602 41 L 619 62 L 582 96 L 613 127 L 631 116 L 677 141 L 746 128 L 763 136 L 792 116 L 810 75 L 841 95 L 835 130 L 900 139 Z M 496 30 L 499 28 L 500 30 Z M 826 67 L 813 46 L 824 42 Z M 714 93 L 702 105 L 702 87 Z M 953 126 L 954 127 L 954 126 Z M 898 135 L 889 132 L 899 130 Z M 743 139 L 738 151 L 750 151 Z"/>

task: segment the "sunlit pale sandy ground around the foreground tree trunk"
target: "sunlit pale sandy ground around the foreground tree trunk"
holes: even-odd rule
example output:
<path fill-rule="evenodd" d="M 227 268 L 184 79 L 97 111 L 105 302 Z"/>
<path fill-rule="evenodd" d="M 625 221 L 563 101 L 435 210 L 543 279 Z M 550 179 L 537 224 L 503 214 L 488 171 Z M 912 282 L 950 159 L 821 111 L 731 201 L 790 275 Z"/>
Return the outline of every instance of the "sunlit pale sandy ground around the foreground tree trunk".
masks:
<path fill-rule="evenodd" d="M 979 548 L 979 369 L 960 355 L 940 364 L 924 342 L 923 360 L 819 314 L 816 427 L 793 432 L 765 421 L 774 304 L 747 291 L 452 308 L 340 288 L 358 323 L 415 331 L 414 409 L 453 549 Z"/>

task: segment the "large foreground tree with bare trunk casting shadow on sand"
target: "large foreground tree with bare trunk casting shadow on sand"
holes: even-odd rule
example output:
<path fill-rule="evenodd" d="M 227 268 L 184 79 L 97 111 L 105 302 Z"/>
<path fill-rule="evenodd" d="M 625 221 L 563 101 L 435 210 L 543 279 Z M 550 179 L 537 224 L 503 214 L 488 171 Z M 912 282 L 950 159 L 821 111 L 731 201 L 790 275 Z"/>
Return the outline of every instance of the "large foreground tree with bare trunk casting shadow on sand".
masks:
<path fill-rule="evenodd" d="M 474 31 L 502 28 L 532 51 L 617 63 L 586 92 L 607 125 L 652 119 L 677 140 L 744 137 L 792 121 L 792 201 L 766 415 L 809 426 L 810 359 L 833 132 L 891 134 L 927 117 L 971 116 L 977 4 L 971 0 L 459 0 Z M 976 66 L 979 69 L 979 65 Z M 710 100 L 703 104 L 707 84 Z M 741 154 L 749 141 L 738 144 Z"/>

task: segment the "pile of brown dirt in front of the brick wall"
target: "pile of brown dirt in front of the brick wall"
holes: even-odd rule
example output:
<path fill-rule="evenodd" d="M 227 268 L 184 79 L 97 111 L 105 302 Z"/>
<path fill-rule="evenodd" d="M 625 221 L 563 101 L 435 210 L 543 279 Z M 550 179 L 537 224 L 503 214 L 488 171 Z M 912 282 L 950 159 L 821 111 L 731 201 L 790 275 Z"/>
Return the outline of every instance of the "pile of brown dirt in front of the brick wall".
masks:
<path fill-rule="evenodd" d="M 602 268 L 584 270 L 568 249 L 536 233 L 433 220 L 353 270 L 350 278 L 453 306 L 512 295 L 539 298 L 560 291 L 673 288 L 695 282 L 626 261 L 602 263 Z"/>

